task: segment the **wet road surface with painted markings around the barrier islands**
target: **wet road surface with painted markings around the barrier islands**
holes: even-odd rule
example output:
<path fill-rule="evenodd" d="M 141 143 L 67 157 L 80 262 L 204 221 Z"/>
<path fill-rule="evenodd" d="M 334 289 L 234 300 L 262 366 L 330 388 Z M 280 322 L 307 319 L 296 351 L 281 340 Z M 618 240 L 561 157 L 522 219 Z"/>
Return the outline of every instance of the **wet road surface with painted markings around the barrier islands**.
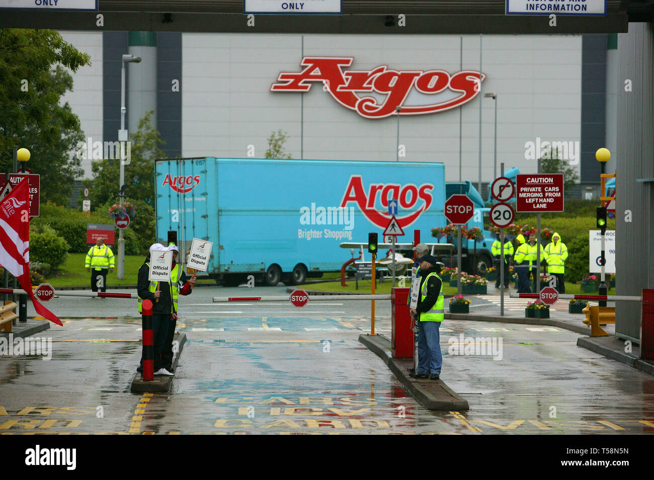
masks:
<path fill-rule="evenodd" d="M 129 392 L 141 355 L 136 301 L 55 298 L 48 307 L 66 323 L 39 334 L 52 337 L 52 360 L 0 356 L 0 434 L 654 433 L 654 378 L 577 347 L 574 332 L 446 320 L 441 378 L 470 411 L 432 412 L 358 342 L 370 302 L 211 302 L 285 289 L 182 297 L 188 342 L 173 388 L 143 396 Z M 390 338 L 389 303 L 377 302 L 375 329 Z M 454 355 L 500 340 L 498 360 Z"/>

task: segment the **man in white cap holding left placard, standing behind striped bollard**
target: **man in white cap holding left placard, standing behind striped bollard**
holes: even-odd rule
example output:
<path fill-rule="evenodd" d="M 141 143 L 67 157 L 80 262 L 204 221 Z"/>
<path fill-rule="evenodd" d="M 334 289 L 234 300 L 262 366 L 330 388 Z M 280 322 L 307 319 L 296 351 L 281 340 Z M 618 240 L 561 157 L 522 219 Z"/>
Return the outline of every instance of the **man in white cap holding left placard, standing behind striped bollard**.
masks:
<path fill-rule="evenodd" d="M 154 255 L 160 255 L 166 248 L 162 244 L 152 244 L 150 246 L 150 255 L 145 257 L 145 261 L 139 268 L 138 292 L 139 292 L 139 312 L 143 310 L 143 300 L 152 302 L 152 345 L 154 349 L 154 374 L 173 376 L 164 368 L 162 360 L 163 342 L 171 319 L 177 320 L 177 312 L 173 304 L 173 288 L 169 281 L 150 281 L 150 259 Z M 143 357 L 141 365 L 137 368 L 138 372 L 143 373 Z"/>

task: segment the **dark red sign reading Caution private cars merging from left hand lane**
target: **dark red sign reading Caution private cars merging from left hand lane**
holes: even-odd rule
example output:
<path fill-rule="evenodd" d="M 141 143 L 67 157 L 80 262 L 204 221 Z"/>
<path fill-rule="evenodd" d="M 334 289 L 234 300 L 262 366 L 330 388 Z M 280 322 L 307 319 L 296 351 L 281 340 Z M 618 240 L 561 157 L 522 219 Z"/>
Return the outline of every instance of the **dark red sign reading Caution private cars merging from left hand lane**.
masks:
<path fill-rule="evenodd" d="M 563 174 L 517 175 L 515 210 L 563 212 Z"/>

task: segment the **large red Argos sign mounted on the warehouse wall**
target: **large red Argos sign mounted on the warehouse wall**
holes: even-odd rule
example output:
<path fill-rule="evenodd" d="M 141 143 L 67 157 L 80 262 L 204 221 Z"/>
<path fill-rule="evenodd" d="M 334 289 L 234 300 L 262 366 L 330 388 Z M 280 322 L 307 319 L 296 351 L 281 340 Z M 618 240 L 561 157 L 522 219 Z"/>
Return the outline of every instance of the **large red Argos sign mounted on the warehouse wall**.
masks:
<path fill-rule="evenodd" d="M 451 110 L 475 98 L 486 78 L 485 74 L 473 70 L 449 74 L 444 70 L 398 71 L 388 69 L 388 65 L 379 65 L 370 71 L 343 71 L 353 60 L 354 57 L 303 57 L 300 65 L 305 68 L 301 72 L 281 72 L 270 91 L 309 91 L 311 82 L 318 82 L 334 100 L 360 116 L 386 118 L 395 115 L 398 106 L 402 108 L 400 115 Z M 423 95 L 450 93 L 451 96 L 455 93 L 456 97 L 438 103 L 405 105 L 414 89 Z M 361 95 L 366 92 L 385 97 L 380 103 L 376 97 Z"/>

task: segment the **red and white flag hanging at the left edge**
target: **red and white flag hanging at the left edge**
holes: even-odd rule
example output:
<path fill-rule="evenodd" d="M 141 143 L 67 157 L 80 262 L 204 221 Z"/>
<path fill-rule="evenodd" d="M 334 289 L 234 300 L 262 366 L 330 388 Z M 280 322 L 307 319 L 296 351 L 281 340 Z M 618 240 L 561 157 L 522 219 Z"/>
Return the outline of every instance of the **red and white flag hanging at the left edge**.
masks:
<path fill-rule="evenodd" d="M 29 185 L 23 178 L 11 193 L 0 200 L 0 265 L 18 279 L 34 309 L 61 325 L 60 319 L 34 297 L 29 278 Z"/>

